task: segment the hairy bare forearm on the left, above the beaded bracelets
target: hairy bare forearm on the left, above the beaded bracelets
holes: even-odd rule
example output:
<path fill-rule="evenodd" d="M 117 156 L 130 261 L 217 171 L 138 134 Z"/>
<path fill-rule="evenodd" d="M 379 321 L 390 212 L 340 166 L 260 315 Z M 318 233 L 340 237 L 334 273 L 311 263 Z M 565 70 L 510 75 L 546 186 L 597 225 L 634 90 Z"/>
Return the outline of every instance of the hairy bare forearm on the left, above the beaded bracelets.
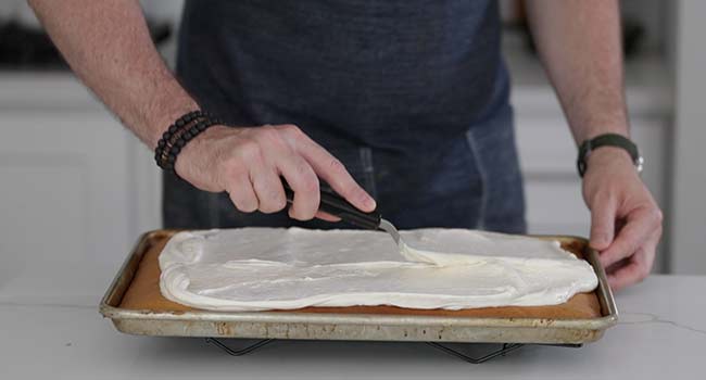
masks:
<path fill-rule="evenodd" d="M 154 48 L 137 0 L 29 0 L 78 77 L 150 148 L 197 103 Z"/>

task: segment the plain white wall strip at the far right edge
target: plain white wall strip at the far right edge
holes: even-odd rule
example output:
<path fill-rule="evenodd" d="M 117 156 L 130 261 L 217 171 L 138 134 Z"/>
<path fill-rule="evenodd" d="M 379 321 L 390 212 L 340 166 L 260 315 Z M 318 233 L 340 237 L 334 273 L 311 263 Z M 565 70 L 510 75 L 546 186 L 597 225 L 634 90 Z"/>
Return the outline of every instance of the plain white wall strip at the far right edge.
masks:
<path fill-rule="evenodd" d="M 677 2 L 671 270 L 706 274 L 706 1 Z"/>

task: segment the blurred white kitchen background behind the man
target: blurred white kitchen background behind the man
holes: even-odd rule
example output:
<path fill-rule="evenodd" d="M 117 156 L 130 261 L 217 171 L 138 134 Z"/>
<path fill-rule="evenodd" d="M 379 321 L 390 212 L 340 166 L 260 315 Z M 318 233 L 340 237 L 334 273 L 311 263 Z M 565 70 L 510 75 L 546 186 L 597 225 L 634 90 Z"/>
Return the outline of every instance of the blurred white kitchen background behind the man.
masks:
<path fill-rule="evenodd" d="M 181 1 L 142 4 L 172 64 Z M 530 232 L 585 237 L 575 143 L 522 2 L 501 4 Z M 706 2 L 621 4 L 632 135 L 666 216 L 654 270 L 705 275 Z M 159 169 L 71 74 L 23 0 L 0 2 L 0 301 L 55 303 L 71 292 L 94 303 L 138 236 L 160 228 Z"/>

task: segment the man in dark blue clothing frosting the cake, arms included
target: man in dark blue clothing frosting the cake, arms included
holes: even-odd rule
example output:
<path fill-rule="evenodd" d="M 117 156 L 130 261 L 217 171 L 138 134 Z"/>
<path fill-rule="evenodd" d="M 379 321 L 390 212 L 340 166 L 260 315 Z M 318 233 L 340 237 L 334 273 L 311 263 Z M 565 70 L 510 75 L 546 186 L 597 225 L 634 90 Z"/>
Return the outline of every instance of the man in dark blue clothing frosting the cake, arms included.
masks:
<path fill-rule="evenodd" d="M 165 175 L 168 227 L 331 220 L 317 213 L 320 178 L 363 211 L 374 195 L 401 228 L 525 230 L 495 1 L 187 0 L 176 77 L 137 0 L 29 2 L 151 149 L 190 111 L 225 121 L 181 150 L 184 180 Z M 576 141 L 628 136 L 617 0 L 527 8 Z M 591 245 L 622 288 L 648 274 L 661 214 L 626 150 L 585 161 Z M 295 193 L 289 217 L 280 176 Z"/>

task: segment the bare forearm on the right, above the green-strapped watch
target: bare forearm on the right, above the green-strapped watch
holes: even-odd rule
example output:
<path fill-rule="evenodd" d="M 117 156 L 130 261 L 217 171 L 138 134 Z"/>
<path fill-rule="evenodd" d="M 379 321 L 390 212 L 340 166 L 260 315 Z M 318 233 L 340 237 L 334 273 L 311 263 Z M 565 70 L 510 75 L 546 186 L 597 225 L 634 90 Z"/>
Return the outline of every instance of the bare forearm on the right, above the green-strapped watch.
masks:
<path fill-rule="evenodd" d="M 617 0 L 530 0 L 530 27 L 577 143 L 628 135 Z"/>

